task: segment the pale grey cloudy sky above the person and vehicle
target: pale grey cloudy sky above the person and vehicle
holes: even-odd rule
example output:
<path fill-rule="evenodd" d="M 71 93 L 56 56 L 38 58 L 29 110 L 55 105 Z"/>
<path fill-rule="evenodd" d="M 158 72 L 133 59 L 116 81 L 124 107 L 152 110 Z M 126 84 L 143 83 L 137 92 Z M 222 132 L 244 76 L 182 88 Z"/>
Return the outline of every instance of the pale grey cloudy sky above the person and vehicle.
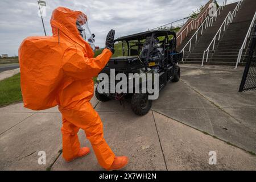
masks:
<path fill-rule="evenodd" d="M 115 37 L 147 31 L 189 16 L 208 0 L 44 0 L 47 35 L 52 35 L 52 11 L 59 6 L 83 11 L 88 16 L 90 30 L 96 35 L 96 46 L 104 47 L 111 29 Z M 217 2 L 222 5 L 224 0 Z M 228 3 L 237 0 L 228 0 Z M 36 0 L 0 1 L 0 55 L 17 56 L 18 48 L 28 36 L 44 36 Z"/>

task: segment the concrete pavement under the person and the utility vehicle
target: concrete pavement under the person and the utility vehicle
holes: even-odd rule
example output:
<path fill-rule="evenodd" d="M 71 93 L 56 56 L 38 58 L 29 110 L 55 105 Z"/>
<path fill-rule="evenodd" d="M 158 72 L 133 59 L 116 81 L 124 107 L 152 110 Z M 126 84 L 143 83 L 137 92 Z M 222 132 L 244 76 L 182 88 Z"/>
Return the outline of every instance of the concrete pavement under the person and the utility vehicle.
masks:
<path fill-rule="evenodd" d="M 238 93 L 242 68 L 181 65 L 171 83 L 138 117 L 117 101 L 92 104 L 104 122 L 116 155 L 130 158 L 126 170 L 256 170 L 256 93 Z M 0 170 L 101 170 L 93 152 L 65 163 L 57 108 L 34 112 L 22 104 L 0 108 Z M 214 137 L 212 137 L 212 136 Z M 80 131 L 82 146 L 90 146 Z M 224 142 L 225 141 L 225 142 Z M 38 164 L 45 151 L 47 165 Z M 210 151 L 217 165 L 208 163 Z"/>

